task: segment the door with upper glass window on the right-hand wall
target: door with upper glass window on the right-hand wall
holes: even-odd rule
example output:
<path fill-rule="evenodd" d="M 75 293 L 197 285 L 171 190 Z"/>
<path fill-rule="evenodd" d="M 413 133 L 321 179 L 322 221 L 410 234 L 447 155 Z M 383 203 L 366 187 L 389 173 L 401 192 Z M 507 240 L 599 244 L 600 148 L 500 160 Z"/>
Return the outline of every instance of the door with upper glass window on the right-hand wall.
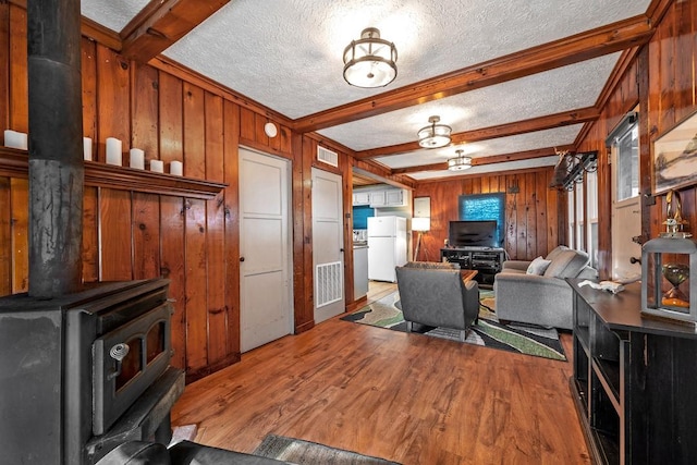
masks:
<path fill-rule="evenodd" d="M 636 125 L 612 145 L 612 279 L 633 280 L 641 276 L 641 246 L 632 241 L 641 235 L 639 203 L 638 133 Z"/>

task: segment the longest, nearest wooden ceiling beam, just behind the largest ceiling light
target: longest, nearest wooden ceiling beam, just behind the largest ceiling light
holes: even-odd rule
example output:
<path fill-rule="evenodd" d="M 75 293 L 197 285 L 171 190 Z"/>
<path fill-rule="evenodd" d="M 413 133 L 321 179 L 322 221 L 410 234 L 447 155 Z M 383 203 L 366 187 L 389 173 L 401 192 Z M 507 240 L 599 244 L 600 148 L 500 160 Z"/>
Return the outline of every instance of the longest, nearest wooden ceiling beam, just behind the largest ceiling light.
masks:
<path fill-rule="evenodd" d="M 301 133 L 318 131 L 504 83 L 641 45 L 652 34 L 653 26 L 649 19 L 645 15 L 634 16 L 299 118 L 295 120 L 293 129 Z"/>

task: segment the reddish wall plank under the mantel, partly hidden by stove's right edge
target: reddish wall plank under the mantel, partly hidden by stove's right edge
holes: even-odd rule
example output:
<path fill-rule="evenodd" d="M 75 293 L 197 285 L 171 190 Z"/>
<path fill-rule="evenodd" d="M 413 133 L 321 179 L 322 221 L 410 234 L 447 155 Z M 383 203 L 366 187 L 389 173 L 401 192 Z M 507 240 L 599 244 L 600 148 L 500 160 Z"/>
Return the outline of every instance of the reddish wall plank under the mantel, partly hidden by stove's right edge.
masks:
<path fill-rule="evenodd" d="M 186 293 L 184 266 L 184 199 L 160 196 L 160 272 L 170 280 L 172 315 L 172 366 L 186 368 Z"/>

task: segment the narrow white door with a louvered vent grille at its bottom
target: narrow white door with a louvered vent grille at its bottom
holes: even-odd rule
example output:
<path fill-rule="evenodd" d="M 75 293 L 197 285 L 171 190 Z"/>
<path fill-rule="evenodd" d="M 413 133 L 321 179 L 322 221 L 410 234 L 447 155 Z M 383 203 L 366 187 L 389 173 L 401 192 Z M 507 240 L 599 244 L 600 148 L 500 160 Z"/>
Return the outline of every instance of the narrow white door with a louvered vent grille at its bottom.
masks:
<path fill-rule="evenodd" d="M 313 168 L 316 323 L 345 311 L 342 192 L 340 175 Z"/>

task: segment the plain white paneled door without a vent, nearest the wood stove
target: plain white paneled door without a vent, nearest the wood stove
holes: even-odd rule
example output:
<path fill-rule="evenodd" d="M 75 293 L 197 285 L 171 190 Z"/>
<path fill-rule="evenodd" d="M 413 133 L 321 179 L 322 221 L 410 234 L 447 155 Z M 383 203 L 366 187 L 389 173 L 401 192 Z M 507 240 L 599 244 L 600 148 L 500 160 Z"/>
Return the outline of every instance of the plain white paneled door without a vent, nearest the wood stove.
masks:
<path fill-rule="evenodd" d="M 293 332 L 289 164 L 240 148 L 242 352 Z"/>

